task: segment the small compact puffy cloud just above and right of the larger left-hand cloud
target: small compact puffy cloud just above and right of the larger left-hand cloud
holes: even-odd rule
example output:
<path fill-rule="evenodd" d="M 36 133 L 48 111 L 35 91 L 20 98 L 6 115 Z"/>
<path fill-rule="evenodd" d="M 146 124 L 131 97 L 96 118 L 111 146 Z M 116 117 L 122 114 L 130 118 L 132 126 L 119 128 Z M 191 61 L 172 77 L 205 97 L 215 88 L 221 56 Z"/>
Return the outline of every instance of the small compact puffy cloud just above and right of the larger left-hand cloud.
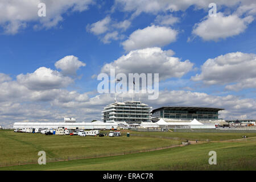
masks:
<path fill-rule="evenodd" d="M 76 76 L 76 72 L 80 67 L 85 67 L 85 63 L 82 63 L 76 56 L 65 56 L 55 63 L 57 69 L 61 69 L 63 75 Z"/>

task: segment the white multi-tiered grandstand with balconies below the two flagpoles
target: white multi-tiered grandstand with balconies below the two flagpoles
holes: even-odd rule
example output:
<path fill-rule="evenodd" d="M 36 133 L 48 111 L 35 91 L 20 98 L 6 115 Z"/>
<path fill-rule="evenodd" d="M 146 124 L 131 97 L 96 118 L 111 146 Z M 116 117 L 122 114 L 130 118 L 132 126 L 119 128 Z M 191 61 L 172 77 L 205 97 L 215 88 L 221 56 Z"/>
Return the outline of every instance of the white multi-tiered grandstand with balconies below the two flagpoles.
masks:
<path fill-rule="evenodd" d="M 126 122 L 129 125 L 141 122 L 150 122 L 151 109 L 140 101 L 114 102 L 102 111 L 104 122 Z"/>

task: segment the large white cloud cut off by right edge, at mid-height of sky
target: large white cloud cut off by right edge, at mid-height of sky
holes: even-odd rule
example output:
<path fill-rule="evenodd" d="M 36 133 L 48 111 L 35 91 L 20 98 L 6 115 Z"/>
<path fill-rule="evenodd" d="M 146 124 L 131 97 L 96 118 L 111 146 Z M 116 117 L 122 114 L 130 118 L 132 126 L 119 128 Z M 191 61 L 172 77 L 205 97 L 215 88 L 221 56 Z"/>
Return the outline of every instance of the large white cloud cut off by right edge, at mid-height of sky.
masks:
<path fill-rule="evenodd" d="M 226 86 L 229 90 L 255 88 L 255 68 L 255 54 L 232 52 L 208 59 L 201 66 L 201 73 L 191 79 L 208 85 L 237 83 Z"/>

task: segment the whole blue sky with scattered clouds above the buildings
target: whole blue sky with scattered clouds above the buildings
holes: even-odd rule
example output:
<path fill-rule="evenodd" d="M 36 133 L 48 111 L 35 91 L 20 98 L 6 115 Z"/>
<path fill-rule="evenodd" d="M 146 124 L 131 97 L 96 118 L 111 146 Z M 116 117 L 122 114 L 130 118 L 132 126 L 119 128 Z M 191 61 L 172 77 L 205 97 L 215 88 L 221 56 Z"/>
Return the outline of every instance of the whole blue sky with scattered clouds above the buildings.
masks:
<path fill-rule="evenodd" d="M 46 3 L 46 17 L 37 15 L 39 9 L 36 5 L 40 2 Z M 153 107 L 162 105 L 224 107 L 225 118 L 255 119 L 256 117 L 256 75 L 253 72 L 256 65 L 254 20 L 256 4 L 253 1 L 237 0 L 230 4 L 221 0 L 216 1 L 216 18 L 209 17 L 210 2 L 207 1 L 190 4 L 186 1 L 151 0 L 127 2 L 72 0 L 60 1 L 59 5 L 53 5 L 52 0 L 24 2 L 22 5 L 16 5 L 15 1 L 10 1 L 6 5 L 4 3 L 6 2 L 0 2 L 0 5 L 4 5 L 0 6 L 3 9 L 3 14 L 0 14 L 0 73 L 2 73 L 0 102 L 3 105 L 0 110 L 1 125 L 11 125 L 14 121 L 57 121 L 62 120 L 64 115 L 76 117 L 81 121 L 85 118 L 86 121 L 101 119 L 102 108 L 113 101 L 113 96 L 97 93 L 99 81 L 97 77 L 92 78 L 92 76 L 104 71 L 108 72 L 106 64 L 120 70 L 127 69 L 128 72 L 136 70 L 137 63 L 141 73 L 152 71 L 165 76 L 160 80 L 159 98 L 167 99 L 149 101 L 147 97 L 142 97 L 142 101 L 146 104 Z M 146 6 L 151 4 L 152 6 Z M 11 5 L 16 11 L 4 14 Z M 75 7 L 79 7 L 79 10 Z M 53 21 L 60 16 L 61 20 Z M 158 16 L 162 17 L 159 21 L 156 20 Z M 103 20 L 109 22 L 96 27 L 97 22 Z M 173 20 L 173 22 L 163 23 L 164 20 Z M 118 27 L 124 21 L 129 23 L 125 27 Z M 48 23 L 51 23 L 51 26 L 48 26 Z M 18 27 L 15 27 L 16 24 Z M 212 28 L 208 30 L 207 26 Z M 161 35 L 159 35 L 160 31 L 163 32 Z M 165 35 L 165 32 L 176 33 L 171 36 Z M 112 39 L 104 42 L 104 37 L 112 33 L 114 34 Z M 139 36 L 145 36 L 147 40 L 137 41 Z M 129 48 L 123 46 L 126 41 L 133 42 L 134 46 Z M 138 50 L 143 52 L 147 48 L 150 53 L 159 53 L 160 49 L 163 52 L 172 50 L 175 54 L 170 56 L 160 52 L 159 54 L 166 60 L 155 60 L 153 66 L 155 68 L 152 69 L 143 60 L 133 58 L 136 53 L 139 54 Z M 121 56 L 129 53 L 132 57 L 129 64 L 125 63 L 127 60 L 119 60 Z M 65 56 L 75 56 L 77 59 L 72 59 L 76 61 L 74 64 L 86 65 L 74 68 L 76 75 L 65 75 L 63 67 L 58 69 L 55 66 L 55 63 Z M 179 59 L 175 64 L 180 69 L 186 70 L 184 74 L 175 75 L 171 67 L 170 73 L 162 72 L 163 67 L 159 63 L 168 63 L 170 57 Z M 208 59 L 213 59 L 213 64 L 206 64 Z M 115 64 L 115 60 L 119 62 Z M 185 60 L 189 63 L 183 65 Z M 247 67 L 243 68 L 242 63 Z M 202 65 L 205 65 L 205 68 Z M 34 77 L 33 74 L 42 67 L 49 68 L 57 75 L 60 74 L 56 81 L 69 78 L 72 81 L 69 84 L 61 83 L 57 88 L 50 86 L 44 89 L 43 86 L 47 85 L 47 82 L 41 78 L 43 79 L 44 71 L 47 70 L 40 72 L 42 77 L 40 75 Z M 240 67 L 240 70 L 234 71 Z M 48 73 L 51 76 L 52 73 Z M 22 77 L 18 78 L 20 74 Z M 199 76 L 197 80 L 196 75 Z M 32 88 L 30 86 L 32 83 L 42 84 L 40 85 L 42 89 Z M 236 86 L 230 86 L 234 84 Z M 72 95 L 72 91 L 76 92 L 76 96 Z M 56 95 L 53 94 L 55 92 Z M 61 94 L 69 100 L 58 98 Z M 175 100 L 177 96 L 181 96 L 183 100 L 181 98 Z M 77 97 L 83 99 L 77 101 Z M 101 102 L 95 104 L 98 99 Z M 24 106 L 27 107 L 26 111 L 22 110 Z M 11 109 L 20 112 L 14 114 L 14 110 Z M 35 115 L 28 114 L 31 111 Z"/>

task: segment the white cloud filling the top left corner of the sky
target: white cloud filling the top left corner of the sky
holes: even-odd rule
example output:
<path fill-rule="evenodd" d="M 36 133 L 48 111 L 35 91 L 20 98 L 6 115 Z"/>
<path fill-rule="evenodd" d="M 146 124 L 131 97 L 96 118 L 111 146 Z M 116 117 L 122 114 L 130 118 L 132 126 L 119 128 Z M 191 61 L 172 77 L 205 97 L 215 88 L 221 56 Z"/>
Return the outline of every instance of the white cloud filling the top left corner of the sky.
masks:
<path fill-rule="evenodd" d="M 46 4 L 46 17 L 38 16 L 41 2 Z M 92 0 L 4 0 L 0 2 L 0 26 L 7 34 L 16 34 L 28 22 L 36 23 L 37 27 L 51 28 L 63 20 L 64 13 L 84 11 L 93 3 Z"/>

